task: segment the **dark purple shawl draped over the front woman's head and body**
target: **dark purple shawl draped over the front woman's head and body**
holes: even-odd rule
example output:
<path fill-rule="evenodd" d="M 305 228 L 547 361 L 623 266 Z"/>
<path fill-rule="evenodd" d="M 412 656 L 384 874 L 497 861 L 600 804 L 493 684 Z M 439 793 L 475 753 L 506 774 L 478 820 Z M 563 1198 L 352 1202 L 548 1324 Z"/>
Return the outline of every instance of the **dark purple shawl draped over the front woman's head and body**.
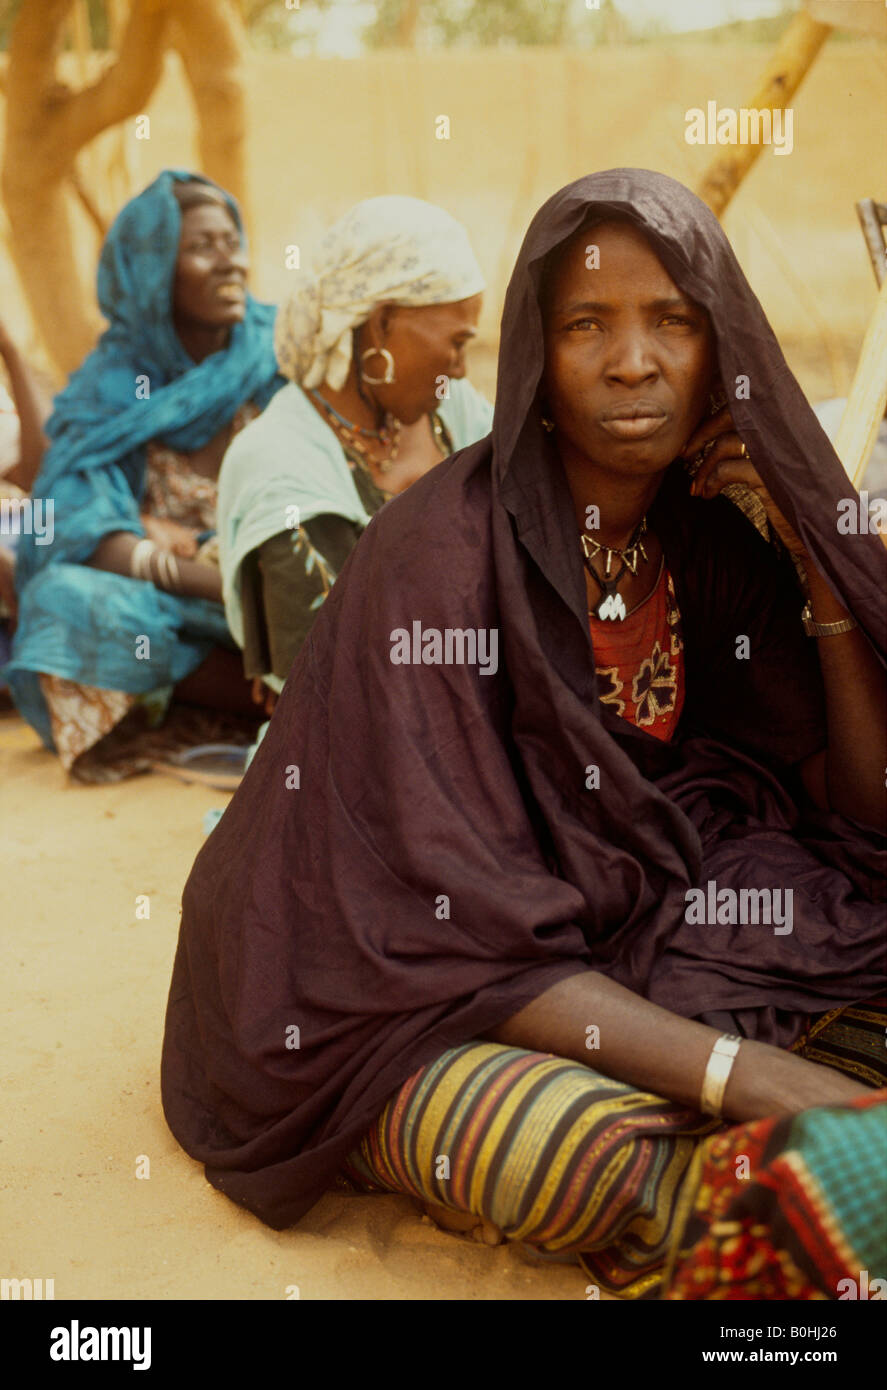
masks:
<path fill-rule="evenodd" d="M 749 377 L 731 409 L 751 457 L 884 659 L 887 550 L 837 534 L 852 488 L 717 220 L 642 170 L 563 189 L 509 286 L 492 438 L 374 517 L 185 890 L 165 1115 L 275 1227 L 413 1072 L 569 974 L 783 1045 L 884 981 L 884 842 L 817 813 L 792 770 L 826 728 L 791 562 L 726 498 L 690 498 L 680 460 L 651 513 L 684 623 L 678 737 L 598 701 L 573 503 L 535 399 L 537 289 L 546 253 L 608 210 L 706 307 L 727 388 Z M 496 628 L 498 673 L 392 664 L 414 620 Z M 687 924 L 685 891 L 709 878 L 791 887 L 792 933 Z"/>

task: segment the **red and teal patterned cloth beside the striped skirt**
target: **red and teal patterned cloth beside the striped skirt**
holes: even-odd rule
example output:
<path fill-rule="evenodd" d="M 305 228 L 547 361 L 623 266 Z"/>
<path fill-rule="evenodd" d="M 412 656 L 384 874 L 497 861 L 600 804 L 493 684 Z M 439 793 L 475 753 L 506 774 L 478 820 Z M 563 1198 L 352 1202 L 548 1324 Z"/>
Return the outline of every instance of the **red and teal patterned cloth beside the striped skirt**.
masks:
<path fill-rule="evenodd" d="M 886 1298 L 887 1090 L 703 1141 L 690 1204 L 667 1298 Z"/>

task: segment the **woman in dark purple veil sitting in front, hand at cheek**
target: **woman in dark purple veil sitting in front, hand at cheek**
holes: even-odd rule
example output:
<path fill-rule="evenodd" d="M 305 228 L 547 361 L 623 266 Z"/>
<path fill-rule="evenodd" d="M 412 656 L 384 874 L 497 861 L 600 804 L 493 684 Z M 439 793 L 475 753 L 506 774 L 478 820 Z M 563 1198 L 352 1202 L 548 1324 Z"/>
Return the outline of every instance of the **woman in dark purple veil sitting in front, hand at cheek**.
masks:
<path fill-rule="evenodd" d="M 637 1297 L 726 1125 L 769 1175 L 748 1126 L 822 1115 L 841 1259 L 752 1201 L 783 1283 L 730 1277 L 877 1268 L 887 550 L 847 499 L 692 193 L 541 208 L 492 436 L 373 520 L 185 891 L 164 1108 L 215 1187 L 278 1229 L 412 1193 Z"/>

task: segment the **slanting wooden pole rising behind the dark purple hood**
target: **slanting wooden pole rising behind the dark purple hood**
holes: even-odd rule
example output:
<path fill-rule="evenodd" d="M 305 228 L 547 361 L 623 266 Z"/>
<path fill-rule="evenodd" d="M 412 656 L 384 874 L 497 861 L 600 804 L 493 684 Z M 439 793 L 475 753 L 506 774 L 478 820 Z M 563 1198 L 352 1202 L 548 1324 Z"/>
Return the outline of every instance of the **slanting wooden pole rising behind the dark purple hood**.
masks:
<path fill-rule="evenodd" d="M 831 33 L 831 25 L 811 19 L 801 10 L 792 18 L 767 63 L 748 108 L 781 110 L 801 86 L 813 60 Z M 727 145 L 715 156 L 697 193 L 717 217 L 760 154 L 760 145 Z"/>

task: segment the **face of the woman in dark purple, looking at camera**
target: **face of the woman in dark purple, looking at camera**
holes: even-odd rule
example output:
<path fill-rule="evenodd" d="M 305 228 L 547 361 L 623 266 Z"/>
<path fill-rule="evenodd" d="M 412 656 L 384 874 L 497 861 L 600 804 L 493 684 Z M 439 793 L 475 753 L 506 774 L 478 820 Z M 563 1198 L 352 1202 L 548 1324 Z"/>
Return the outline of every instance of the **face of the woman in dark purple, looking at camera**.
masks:
<path fill-rule="evenodd" d="M 544 386 L 562 450 L 613 473 L 662 471 L 708 400 L 715 374 L 708 314 L 624 222 L 573 236 L 546 289 Z"/>

